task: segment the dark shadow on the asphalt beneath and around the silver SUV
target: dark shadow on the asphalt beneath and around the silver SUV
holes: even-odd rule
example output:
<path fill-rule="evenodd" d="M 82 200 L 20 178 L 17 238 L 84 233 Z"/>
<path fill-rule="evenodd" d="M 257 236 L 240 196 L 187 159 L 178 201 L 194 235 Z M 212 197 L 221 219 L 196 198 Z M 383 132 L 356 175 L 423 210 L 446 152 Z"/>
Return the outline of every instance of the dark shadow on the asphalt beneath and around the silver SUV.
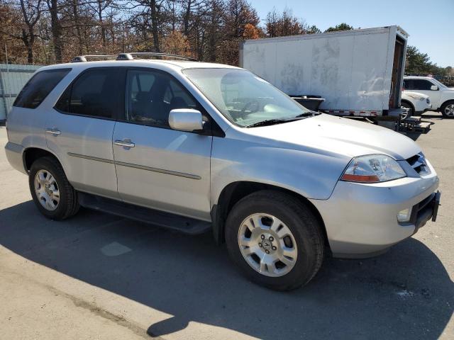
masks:
<path fill-rule="evenodd" d="M 453 315 L 453 282 L 416 239 L 375 259 L 328 258 L 305 288 L 279 293 L 240 276 L 211 234 L 89 210 L 53 222 L 31 201 L 0 221 L 0 244 L 16 254 L 173 315 L 150 320 L 150 336 L 201 322 L 260 339 L 438 339 Z"/>

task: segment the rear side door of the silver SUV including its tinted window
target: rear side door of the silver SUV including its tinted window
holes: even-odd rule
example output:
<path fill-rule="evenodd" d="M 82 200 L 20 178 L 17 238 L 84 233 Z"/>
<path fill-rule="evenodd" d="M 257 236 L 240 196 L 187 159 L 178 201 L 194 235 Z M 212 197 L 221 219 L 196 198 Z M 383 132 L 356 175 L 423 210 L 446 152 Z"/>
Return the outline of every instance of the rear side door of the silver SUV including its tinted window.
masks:
<path fill-rule="evenodd" d="M 126 70 L 87 69 L 48 115 L 46 140 L 74 188 L 118 199 L 112 134 L 124 107 Z"/>

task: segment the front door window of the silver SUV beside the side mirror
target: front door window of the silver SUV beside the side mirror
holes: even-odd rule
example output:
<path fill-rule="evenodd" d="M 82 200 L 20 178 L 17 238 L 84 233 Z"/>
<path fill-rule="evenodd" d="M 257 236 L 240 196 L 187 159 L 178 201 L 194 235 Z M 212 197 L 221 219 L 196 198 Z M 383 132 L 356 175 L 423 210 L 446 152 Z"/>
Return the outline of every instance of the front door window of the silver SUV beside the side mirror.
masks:
<path fill-rule="evenodd" d="M 196 108 L 184 87 L 164 72 L 128 71 L 126 119 L 130 122 L 169 128 L 169 113 L 175 108 Z"/>

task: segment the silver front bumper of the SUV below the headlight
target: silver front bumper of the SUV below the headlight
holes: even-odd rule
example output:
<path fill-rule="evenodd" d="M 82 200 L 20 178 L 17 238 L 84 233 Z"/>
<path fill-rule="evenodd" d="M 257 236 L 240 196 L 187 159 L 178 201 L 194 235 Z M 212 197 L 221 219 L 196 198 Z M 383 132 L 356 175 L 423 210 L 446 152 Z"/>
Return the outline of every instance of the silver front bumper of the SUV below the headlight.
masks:
<path fill-rule="evenodd" d="M 311 200 L 323 218 L 333 255 L 367 257 L 380 253 L 413 235 L 433 215 L 436 218 L 439 180 L 430 168 L 427 176 L 383 183 L 338 181 L 328 200 Z M 416 215 L 409 222 L 397 221 L 399 211 L 415 206 L 412 212 Z"/>

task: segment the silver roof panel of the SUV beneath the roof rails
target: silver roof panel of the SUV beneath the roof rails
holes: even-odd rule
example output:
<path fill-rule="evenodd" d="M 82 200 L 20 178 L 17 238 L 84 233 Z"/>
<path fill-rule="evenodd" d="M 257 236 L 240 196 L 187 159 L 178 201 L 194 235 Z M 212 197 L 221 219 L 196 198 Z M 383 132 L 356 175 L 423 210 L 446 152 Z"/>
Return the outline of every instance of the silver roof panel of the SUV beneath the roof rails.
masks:
<path fill-rule="evenodd" d="M 180 61 L 180 60 L 100 60 L 94 62 L 68 62 L 66 64 L 53 64 L 40 68 L 40 71 L 46 69 L 61 69 L 61 68 L 72 68 L 72 69 L 89 69 L 92 67 L 157 67 L 158 69 L 194 69 L 194 68 L 209 68 L 209 69 L 240 69 L 227 64 L 217 64 L 214 62 L 192 62 L 192 61 Z"/>

